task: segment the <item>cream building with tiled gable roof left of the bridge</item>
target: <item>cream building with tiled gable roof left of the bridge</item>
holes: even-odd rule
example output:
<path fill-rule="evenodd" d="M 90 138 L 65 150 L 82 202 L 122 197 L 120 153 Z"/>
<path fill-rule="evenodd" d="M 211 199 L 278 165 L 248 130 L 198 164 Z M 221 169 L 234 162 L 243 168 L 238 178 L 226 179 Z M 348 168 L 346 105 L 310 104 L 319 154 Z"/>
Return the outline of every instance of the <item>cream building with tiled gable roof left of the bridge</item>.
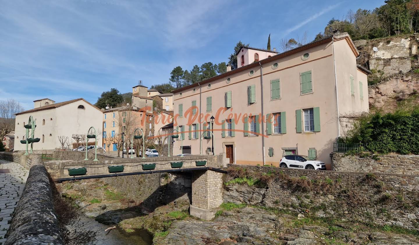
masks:
<path fill-rule="evenodd" d="M 72 134 L 87 134 L 93 126 L 102 129 L 102 111 L 83 98 L 55 103 L 48 98 L 34 101 L 34 108 L 16 114 L 14 151 L 25 150 L 21 144 L 29 116 L 36 121 L 35 137 L 40 141 L 33 144 L 34 150 L 55 150 L 62 147 L 59 136 L 67 138 L 64 147 L 72 147 Z"/>

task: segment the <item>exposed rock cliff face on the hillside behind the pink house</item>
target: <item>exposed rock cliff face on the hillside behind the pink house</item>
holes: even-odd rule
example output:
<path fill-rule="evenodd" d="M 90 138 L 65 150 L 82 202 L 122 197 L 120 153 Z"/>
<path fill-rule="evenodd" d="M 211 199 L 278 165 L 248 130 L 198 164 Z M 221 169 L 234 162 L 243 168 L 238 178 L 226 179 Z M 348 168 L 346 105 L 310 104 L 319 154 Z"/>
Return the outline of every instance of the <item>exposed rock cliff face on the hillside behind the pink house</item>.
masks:
<path fill-rule="evenodd" d="M 372 111 L 391 112 L 419 102 L 418 41 L 416 35 L 354 41 L 360 51 L 357 63 L 373 72 L 368 75 Z"/>

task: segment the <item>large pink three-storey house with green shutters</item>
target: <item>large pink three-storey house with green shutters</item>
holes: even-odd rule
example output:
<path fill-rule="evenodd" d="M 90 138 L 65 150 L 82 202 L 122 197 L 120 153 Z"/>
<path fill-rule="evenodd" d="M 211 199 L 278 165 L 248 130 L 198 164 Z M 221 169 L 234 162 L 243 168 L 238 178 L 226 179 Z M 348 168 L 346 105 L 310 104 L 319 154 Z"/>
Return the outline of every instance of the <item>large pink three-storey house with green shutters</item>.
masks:
<path fill-rule="evenodd" d="M 200 137 L 214 116 L 214 153 L 230 163 L 278 166 L 299 154 L 330 169 L 333 143 L 348 126 L 340 119 L 368 111 L 370 71 L 358 55 L 347 33 L 280 54 L 242 47 L 237 69 L 173 91 L 174 128 L 182 131 L 173 154 L 182 153 L 181 138 L 183 153 L 211 153 L 212 139 L 201 148 Z"/>

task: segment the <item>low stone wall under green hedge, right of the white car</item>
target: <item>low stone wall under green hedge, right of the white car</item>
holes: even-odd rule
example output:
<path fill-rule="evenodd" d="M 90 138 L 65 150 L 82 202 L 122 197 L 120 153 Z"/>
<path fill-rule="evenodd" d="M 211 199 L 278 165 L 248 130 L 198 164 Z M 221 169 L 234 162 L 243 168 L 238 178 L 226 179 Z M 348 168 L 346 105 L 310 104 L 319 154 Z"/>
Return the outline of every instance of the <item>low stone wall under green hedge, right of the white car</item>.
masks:
<path fill-rule="evenodd" d="M 332 153 L 331 170 L 419 175 L 419 155 Z"/>

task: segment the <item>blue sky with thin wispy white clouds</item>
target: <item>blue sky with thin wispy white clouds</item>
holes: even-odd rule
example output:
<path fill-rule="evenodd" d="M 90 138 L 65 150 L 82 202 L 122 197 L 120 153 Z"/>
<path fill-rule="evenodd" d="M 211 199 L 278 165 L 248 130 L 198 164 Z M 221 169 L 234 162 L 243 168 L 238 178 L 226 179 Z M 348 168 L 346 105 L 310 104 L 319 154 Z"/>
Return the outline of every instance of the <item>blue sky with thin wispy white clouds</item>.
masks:
<path fill-rule="evenodd" d="M 170 3 L 169 3 L 170 2 Z M 331 4 L 332 3 L 332 4 Z M 238 40 L 279 48 L 308 32 L 311 41 L 349 9 L 383 0 L 147 1 L 0 0 L 0 100 L 85 98 L 121 93 L 142 80 L 167 82 L 173 67 L 227 61 Z"/>

